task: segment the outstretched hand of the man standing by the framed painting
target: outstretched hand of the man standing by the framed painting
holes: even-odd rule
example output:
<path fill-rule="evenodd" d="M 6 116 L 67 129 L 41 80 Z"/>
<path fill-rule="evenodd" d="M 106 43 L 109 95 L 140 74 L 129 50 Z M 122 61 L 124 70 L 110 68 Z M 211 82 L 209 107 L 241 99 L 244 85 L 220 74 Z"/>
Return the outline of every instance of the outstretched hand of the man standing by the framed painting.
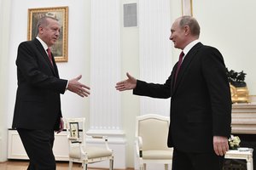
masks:
<path fill-rule="evenodd" d="M 79 94 L 81 97 L 88 97 L 90 94 L 90 88 L 79 82 L 82 75 L 68 81 L 67 89 L 75 94 Z"/>

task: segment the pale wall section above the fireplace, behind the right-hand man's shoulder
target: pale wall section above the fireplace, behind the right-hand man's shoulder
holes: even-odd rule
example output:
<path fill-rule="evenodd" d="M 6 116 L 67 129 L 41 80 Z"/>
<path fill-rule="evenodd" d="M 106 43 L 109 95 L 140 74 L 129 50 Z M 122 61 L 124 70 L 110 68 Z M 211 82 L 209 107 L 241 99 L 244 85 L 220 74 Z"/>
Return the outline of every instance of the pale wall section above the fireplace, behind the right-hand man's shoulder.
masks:
<path fill-rule="evenodd" d="M 249 93 L 256 94 L 256 1 L 193 1 L 194 15 L 201 23 L 201 41 L 217 47 L 226 66 L 247 73 Z"/>

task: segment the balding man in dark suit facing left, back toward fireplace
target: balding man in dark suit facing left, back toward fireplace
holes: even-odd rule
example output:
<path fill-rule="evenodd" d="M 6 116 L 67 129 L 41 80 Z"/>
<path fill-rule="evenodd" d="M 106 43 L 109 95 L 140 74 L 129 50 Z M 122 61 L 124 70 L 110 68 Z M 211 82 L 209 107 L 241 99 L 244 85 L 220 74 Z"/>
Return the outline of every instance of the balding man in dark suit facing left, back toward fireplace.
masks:
<path fill-rule="evenodd" d="M 198 41 L 195 18 L 175 20 L 170 40 L 183 50 L 182 64 L 174 65 L 164 84 L 131 77 L 118 82 L 119 91 L 171 99 L 168 146 L 173 147 L 172 170 L 221 170 L 229 150 L 231 99 L 224 59 L 218 49 Z M 177 72 L 177 70 L 179 70 Z"/>

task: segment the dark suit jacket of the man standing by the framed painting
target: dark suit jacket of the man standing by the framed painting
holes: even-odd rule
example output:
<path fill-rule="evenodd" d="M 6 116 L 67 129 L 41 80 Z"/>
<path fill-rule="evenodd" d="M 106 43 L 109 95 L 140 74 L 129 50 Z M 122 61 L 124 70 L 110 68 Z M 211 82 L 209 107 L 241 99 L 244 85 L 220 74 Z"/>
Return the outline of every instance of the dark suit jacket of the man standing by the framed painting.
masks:
<path fill-rule="evenodd" d="M 48 55 L 37 38 L 21 42 L 16 59 L 18 88 L 13 127 L 26 129 L 59 129 L 60 94 L 67 80 L 59 78 L 53 57 Z"/>

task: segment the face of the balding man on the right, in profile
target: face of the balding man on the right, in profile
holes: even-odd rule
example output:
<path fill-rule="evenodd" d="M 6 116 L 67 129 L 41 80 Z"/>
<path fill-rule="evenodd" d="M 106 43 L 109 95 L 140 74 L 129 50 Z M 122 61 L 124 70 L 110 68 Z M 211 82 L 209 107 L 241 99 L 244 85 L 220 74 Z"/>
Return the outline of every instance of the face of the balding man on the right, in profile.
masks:
<path fill-rule="evenodd" d="M 169 37 L 172 40 L 175 48 L 183 49 L 185 47 L 185 29 L 179 26 L 179 20 L 176 20 L 172 24 L 171 36 Z"/>

